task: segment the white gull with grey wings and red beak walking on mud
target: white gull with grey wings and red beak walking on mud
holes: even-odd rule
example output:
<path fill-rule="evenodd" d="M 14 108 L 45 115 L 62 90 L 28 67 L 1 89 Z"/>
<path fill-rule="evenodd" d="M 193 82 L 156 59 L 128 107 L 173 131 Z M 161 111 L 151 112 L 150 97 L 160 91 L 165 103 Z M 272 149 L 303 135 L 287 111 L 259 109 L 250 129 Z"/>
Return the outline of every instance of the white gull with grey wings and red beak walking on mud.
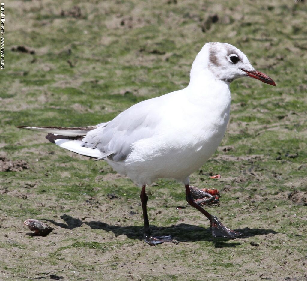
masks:
<path fill-rule="evenodd" d="M 144 240 L 148 244 L 173 241 L 170 236 L 153 237 L 150 232 L 145 186 L 157 178 L 181 181 L 188 203 L 209 219 L 212 235 L 235 238 L 241 233 L 225 227 L 194 202 L 189 176 L 219 146 L 229 120 L 229 84 L 246 76 L 275 86 L 239 49 L 227 43 L 207 43 L 192 64 L 185 89 L 137 103 L 97 126 L 20 128 L 47 132 L 46 139 L 58 146 L 104 159 L 142 187 Z"/>

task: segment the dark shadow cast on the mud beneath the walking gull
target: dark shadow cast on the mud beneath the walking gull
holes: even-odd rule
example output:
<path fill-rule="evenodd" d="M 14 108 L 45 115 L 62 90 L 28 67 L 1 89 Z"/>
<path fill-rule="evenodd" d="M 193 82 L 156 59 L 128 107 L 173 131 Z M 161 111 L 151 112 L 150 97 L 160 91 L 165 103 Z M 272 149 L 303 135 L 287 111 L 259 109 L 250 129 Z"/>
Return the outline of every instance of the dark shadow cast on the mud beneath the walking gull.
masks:
<path fill-rule="evenodd" d="M 66 214 L 60 216 L 66 224 L 59 223 L 53 220 L 45 219 L 45 221 L 49 221 L 52 224 L 67 229 L 73 229 L 80 227 L 82 224 L 87 224 L 91 229 L 102 229 L 107 232 L 113 232 L 115 236 L 126 235 L 130 239 L 135 240 L 143 240 L 143 231 L 144 227 L 139 225 L 129 225 L 129 226 L 118 226 L 111 225 L 101 221 L 81 221 L 78 218 L 73 218 Z M 227 242 L 231 239 L 228 238 L 214 238 L 212 237 L 210 228 L 203 228 L 200 226 L 192 225 L 192 224 L 177 224 L 171 225 L 168 227 L 157 227 L 155 225 L 150 225 L 150 229 L 153 235 L 171 235 L 178 242 L 195 242 L 195 241 L 212 241 L 215 243 L 216 248 L 223 247 L 237 247 L 241 243 L 240 240 L 232 240 L 236 242 Z M 243 228 L 243 229 L 234 229 L 237 232 L 243 233 L 241 238 L 252 237 L 256 235 L 266 235 L 269 233 L 277 234 L 278 232 L 272 229 L 261 229 L 261 228 Z M 226 243 L 227 242 L 227 243 Z"/>

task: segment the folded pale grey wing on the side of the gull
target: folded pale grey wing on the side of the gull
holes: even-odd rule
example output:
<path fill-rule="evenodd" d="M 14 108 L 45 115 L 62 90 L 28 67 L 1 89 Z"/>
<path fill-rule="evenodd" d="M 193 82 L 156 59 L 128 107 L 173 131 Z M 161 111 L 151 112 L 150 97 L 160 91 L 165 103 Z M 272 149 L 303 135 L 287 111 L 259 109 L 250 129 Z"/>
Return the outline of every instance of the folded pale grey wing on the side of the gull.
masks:
<path fill-rule="evenodd" d="M 98 148 L 106 155 L 111 153 L 108 158 L 115 162 L 126 159 L 134 142 L 154 134 L 159 116 L 155 110 L 151 110 L 152 101 L 137 103 L 110 122 L 88 132 L 83 139 L 85 146 Z"/>

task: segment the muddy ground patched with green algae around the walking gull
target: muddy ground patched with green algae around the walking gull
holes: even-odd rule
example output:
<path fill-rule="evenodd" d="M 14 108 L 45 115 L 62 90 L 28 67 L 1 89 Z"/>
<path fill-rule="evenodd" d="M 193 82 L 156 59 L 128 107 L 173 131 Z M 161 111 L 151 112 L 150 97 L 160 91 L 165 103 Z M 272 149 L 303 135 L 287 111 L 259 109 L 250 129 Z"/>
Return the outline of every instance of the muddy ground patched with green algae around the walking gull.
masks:
<path fill-rule="evenodd" d="M 304 1 L 4 4 L 0 280 L 307 280 Z M 183 187 L 158 180 L 148 188 L 150 224 L 179 244 L 150 247 L 138 187 L 15 126 L 94 125 L 184 88 L 209 41 L 239 47 L 277 84 L 231 84 L 227 133 L 191 176 L 220 190 L 209 211 L 244 236 L 212 238 Z M 33 236 L 29 218 L 54 230 Z"/>

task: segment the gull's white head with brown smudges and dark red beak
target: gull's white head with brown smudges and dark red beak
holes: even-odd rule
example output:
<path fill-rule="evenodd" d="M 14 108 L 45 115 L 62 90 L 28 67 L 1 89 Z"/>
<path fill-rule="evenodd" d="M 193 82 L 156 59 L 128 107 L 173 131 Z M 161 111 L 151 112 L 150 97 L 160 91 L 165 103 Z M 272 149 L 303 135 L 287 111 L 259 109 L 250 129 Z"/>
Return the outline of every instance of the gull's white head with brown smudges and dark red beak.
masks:
<path fill-rule="evenodd" d="M 227 43 L 211 42 L 204 45 L 192 64 L 191 79 L 194 73 L 202 70 L 209 71 L 216 80 L 226 83 L 248 76 L 276 86 L 269 76 L 251 65 L 243 52 Z"/>

